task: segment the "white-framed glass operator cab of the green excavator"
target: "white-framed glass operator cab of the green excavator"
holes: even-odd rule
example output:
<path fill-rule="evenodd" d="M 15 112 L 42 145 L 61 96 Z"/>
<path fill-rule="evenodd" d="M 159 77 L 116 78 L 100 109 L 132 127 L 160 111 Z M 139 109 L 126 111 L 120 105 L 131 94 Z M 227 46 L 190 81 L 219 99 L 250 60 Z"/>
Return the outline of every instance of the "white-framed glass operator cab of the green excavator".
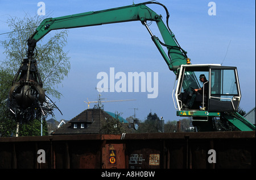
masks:
<path fill-rule="evenodd" d="M 203 75 L 205 82 L 199 78 Z M 177 76 L 175 99 L 179 111 L 237 111 L 241 93 L 236 67 L 181 65 Z"/>

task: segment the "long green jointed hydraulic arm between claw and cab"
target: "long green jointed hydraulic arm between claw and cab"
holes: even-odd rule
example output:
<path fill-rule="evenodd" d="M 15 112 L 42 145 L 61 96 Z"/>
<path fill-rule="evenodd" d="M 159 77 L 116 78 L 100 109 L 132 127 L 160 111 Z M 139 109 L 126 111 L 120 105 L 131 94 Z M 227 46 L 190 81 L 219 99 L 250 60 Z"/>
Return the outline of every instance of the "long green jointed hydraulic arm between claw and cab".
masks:
<path fill-rule="evenodd" d="M 52 30 L 98 26 L 110 23 L 141 21 L 142 24 L 146 26 L 147 30 L 150 32 L 152 40 L 156 44 L 156 47 L 159 49 L 168 67 L 176 73 L 176 69 L 181 64 L 187 63 L 186 52 L 180 47 L 175 39 L 175 35 L 171 32 L 170 28 L 168 28 L 168 11 L 166 27 L 166 25 L 163 23 L 162 16 L 156 14 L 156 12 L 152 11 L 146 6 L 150 3 L 156 2 L 145 2 L 137 5 L 118 7 L 114 9 L 90 11 L 80 14 L 61 16 L 59 18 L 44 19 L 38 28 L 36 28 L 35 34 L 32 35 L 30 39 L 28 39 L 28 53 L 33 53 L 36 42 L 42 39 L 43 36 Z M 157 4 L 162 5 L 160 3 Z M 163 37 L 164 43 L 162 43 L 158 37 L 152 34 L 147 26 L 147 21 L 156 22 Z M 167 47 L 168 56 L 163 51 L 162 45 L 160 44 Z"/>

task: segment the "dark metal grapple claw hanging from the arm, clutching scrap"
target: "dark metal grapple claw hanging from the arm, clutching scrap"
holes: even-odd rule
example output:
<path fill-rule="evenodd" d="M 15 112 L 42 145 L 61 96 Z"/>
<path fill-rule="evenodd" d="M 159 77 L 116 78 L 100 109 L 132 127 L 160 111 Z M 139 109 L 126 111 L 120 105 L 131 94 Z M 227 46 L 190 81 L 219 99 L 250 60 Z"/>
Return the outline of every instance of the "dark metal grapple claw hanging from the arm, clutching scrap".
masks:
<path fill-rule="evenodd" d="M 9 90 L 8 105 L 19 120 L 38 119 L 52 111 L 52 108 L 43 108 L 46 95 L 42 86 L 36 61 L 25 58 Z"/>

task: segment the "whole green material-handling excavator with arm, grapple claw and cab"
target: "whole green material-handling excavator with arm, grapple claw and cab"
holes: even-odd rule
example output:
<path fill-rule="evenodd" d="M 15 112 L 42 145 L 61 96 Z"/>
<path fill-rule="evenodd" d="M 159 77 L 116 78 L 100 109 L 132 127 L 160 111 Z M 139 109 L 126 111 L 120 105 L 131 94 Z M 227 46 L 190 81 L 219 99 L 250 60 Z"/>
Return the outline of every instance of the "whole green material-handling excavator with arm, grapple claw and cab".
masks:
<path fill-rule="evenodd" d="M 161 15 L 156 14 L 147 6 L 150 4 L 160 5 L 166 10 L 166 24 Z M 241 100 L 237 68 L 220 64 L 191 64 L 187 52 L 180 47 L 170 30 L 168 18 L 169 12 L 166 6 L 150 1 L 114 9 L 44 19 L 36 28 L 35 33 L 27 40 L 27 58 L 20 65 L 9 91 L 10 110 L 15 114 L 19 112 L 24 117 L 24 111 L 31 109 L 33 112 L 28 112 L 35 114 L 32 118 L 38 118 L 51 111 L 47 111 L 44 106 L 46 94 L 34 58 L 36 43 L 48 32 L 140 21 L 149 32 L 168 68 L 176 76 L 172 99 L 177 116 L 191 117 L 197 131 L 214 131 L 212 125 L 214 118 L 228 121 L 240 131 L 255 131 L 255 126 L 237 112 Z M 147 22 L 156 23 L 163 42 L 153 34 Z M 163 48 L 167 49 L 167 53 Z"/>

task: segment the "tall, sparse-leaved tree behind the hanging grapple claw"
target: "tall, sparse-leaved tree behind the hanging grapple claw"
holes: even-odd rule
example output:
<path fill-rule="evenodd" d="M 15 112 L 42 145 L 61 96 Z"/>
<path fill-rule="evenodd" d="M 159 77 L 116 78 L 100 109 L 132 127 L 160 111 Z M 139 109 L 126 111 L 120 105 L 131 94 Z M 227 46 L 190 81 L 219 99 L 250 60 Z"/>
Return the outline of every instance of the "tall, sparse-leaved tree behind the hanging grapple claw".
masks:
<path fill-rule="evenodd" d="M 10 16 L 6 23 L 11 29 L 7 39 L 0 41 L 5 51 L 6 59 L 0 63 L 0 136 L 11 136 L 16 131 L 14 116 L 6 106 L 11 82 L 27 53 L 27 39 L 34 34 L 36 27 L 42 22 L 42 16 L 24 18 Z M 63 47 L 67 44 L 67 31 L 55 31 L 38 41 L 35 60 L 47 95 L 60 99 L 61 93 L 56 87 L 61 84 L 71 68 L 68 53 Z M 34 121 L 33 121 L 34 122 Z M 34 122 L 35 123 L 35 122 Z M 28 125 L 34 125 L 28 124 Z M 32 127 L 31 127 L 32 128 Z M 26 133 L 24 133 L 26 134 Z"/>

